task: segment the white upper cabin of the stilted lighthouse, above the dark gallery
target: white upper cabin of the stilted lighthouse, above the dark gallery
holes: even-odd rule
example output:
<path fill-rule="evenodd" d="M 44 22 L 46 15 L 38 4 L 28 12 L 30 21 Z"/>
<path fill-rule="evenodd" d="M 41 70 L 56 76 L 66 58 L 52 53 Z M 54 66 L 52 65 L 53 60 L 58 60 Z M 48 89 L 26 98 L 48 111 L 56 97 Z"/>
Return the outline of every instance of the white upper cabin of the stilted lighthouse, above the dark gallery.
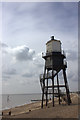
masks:
<path fill-rule="evenodd" d="M 61 52 L 61 42 L 59 40 L 51 39 L 46 43 L 46 52 Z"/>

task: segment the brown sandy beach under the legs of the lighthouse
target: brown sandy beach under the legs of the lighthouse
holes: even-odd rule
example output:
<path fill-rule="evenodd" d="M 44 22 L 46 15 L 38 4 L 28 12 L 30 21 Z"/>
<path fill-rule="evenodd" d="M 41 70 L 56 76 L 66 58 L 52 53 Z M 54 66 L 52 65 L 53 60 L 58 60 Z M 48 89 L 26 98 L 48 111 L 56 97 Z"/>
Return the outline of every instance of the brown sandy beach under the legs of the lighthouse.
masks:
<path fill-rule="evenodd" d="M 52 107 L 52 101 L 49 101 L 47 107 L 44 103 L 43 109 L 41 109 L 41 102 L 15 107 L 4 110 L 3 118 L 78 118 L 78 94 L 71 94 L 71 100 L 71 105 L 67 105 L 64 101 L 59 105 L 58 99 L 55 98 L 55 107 Z"/>

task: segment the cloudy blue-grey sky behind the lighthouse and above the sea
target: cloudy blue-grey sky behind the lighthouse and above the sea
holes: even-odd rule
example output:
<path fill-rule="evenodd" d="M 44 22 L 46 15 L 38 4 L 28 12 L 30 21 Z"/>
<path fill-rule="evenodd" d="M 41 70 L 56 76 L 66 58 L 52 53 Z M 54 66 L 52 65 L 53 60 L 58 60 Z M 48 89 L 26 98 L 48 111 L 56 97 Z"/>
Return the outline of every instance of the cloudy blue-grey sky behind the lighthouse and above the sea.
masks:
<path fill-rule="evenodd" d="M 66 53 L 70 91 L 77 91 L 78 3 L 4 2 L 2 6 L 0 3 L 0 9 L 2 92 L 41 92 L 39 76 L 44 70 L 42 52 L 46 51 L 46 42 L 52 35 L 61 40 Z"/>

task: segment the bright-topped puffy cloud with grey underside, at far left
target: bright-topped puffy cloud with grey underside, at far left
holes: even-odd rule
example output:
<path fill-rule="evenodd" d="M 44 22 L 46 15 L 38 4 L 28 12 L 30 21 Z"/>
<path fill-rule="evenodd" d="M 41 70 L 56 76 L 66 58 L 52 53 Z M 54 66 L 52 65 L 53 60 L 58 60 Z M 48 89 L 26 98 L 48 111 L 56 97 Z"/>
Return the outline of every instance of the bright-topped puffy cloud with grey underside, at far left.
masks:
<path fill-rule="evenodd" d="M 2 43 L 2 47 L 3 47 L 3 52 L 11 54 L 15 61 L 32 60 L 35 54 L 35 51 L 29 49 L 26 45 L 11 48 L 8 47 L 6 44 Z"/>

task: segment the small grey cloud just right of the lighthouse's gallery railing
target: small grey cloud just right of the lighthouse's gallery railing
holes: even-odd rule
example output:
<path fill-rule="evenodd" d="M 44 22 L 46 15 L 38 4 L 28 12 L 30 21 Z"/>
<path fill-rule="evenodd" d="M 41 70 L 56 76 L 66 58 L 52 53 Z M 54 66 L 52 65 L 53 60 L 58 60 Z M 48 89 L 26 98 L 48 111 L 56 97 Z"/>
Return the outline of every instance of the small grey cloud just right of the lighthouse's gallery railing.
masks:
<path fill-rule="evenodd" d="M 78 53 L 76 51 L 66 50 L 66 53 L 67 53 L 67 59 L 69 61 L 74 61 L 78 59 Z"/>

